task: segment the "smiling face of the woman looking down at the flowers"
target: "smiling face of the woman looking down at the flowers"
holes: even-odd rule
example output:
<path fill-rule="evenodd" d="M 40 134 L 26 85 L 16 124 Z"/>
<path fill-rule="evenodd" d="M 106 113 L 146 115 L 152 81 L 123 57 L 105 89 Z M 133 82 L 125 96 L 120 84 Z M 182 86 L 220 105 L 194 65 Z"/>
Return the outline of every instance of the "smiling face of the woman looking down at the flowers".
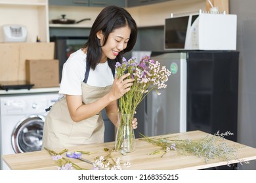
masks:
<path fill-rule="evenodd" d="M 104 63 L 107 58 L 115 59 L 119 52 L 127 47 L 130 34 L 131 29 L 128 26 L 120 27 L 112 31 L 112 33 L 108 35 L 106 44 L 101 47 L 102 58 L 100 59 L 100 63 Z M 100 45 L 102 45 L 104 41 L 104 35 L 101 31 L 97 33 L 97 37 L 100 39 Z"/>

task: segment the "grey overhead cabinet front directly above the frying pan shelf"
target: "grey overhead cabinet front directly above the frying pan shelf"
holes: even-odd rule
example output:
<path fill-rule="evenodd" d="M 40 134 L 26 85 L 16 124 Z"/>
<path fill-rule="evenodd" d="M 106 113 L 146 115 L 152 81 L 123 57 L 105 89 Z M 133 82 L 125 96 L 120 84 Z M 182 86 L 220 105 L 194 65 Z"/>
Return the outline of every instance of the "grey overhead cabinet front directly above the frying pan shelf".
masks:
<path fill-rule="evenodd" d="M 116 5 L 125 7 L 125 0 L 49 0 L 49 5 L 74 7 L 107 7 L 108 5 Z"/>

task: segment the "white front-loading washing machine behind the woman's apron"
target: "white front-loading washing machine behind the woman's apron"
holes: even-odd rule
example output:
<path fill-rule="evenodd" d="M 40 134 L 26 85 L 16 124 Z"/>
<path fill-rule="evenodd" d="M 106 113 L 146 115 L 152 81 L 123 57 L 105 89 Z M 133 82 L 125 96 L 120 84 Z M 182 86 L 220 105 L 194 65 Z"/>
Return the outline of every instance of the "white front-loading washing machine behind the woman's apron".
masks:
<path fill-rule="evenodd" d="M 58 93 L 0 95 L 1 156 L 41 150 L 45 109 L 57 100 Z M 9 169 L 0 162 L 1 169 Z"/>

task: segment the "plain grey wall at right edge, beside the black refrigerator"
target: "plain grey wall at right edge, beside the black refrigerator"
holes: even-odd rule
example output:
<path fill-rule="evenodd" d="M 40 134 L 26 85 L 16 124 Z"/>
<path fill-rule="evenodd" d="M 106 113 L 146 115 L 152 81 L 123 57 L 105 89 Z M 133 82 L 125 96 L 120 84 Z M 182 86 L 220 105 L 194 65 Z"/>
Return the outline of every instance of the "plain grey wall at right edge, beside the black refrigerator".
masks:
<path fill-rule="evenodd" d="M 238 142 L 256 148 L 256 1 L 230 0 L 230 14 L 238 15 L 240 52 Z M 240 169 L 256 169 L 256 160 Z"/>

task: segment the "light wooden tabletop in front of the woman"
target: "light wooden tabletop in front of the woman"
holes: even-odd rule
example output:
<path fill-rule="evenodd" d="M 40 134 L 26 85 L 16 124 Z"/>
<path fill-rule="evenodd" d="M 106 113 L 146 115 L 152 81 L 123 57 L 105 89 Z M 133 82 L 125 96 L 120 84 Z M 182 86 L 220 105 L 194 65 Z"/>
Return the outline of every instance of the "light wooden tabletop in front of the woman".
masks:
<path fill-rule="evenodd" d="M 206 137 L 208 133 L 202 131 L 188 131 L 186 133 L 176 133 L 170 135 L 163 135 L 169 137 L 179 137 L 181 139 L 202 139 Z M 224 140 L 232 146 L 238 147 L 237 155 L 238 159 L 243 161 L 251 161 L 256 159 L 256 148 L 245 146 L 236 142 Z M 114 148 L 114 142 L 106 142 L 103 144 L 89 144 L 84 146 L 76 146 L 68 148 L 68 151 L 74 152 L 77 150 L 83 150 L 87 152 L 93 152 L 93 154 L 87 155 L 83 154 L 82 157 L 94 161 L 97 156 L 106 156 L 107 152 L 104 148 L 112 149 Z M 119 152 L 112 152 L 112 158 L 120 158 L 121 162 L 129 161 L 131 167 L 122 166 L 122 169 L 130 170 L 147 170 L 147 169 L 207 169 L 210 167 L 218 167 L 221 165 L 227 165 L 226 161 L 221 161 L 220 159 L 211 159 L 209 162 L 205 163 L 204 159 L 198 158 L 196 156 L 181 156 L 177 152 L 168 152 L 161 158 L 161 154 L 149 155 L 150 152 L 159 149 L 158 146 L 154 146 L 141 139 L 136 139 L 136 150 L 127 155 L 123 156 Z M 54 149 L 55 152 L 60 152 L 63 149 Z M 65 157 L 65 154 L 62 155 Z M 230 163 L 238 163 L 239 160 L 234 159 Z M 41 150 L 37 152 L 26 152 L 20 154 L 3 155 L 3 160 L 11 169 L 22 170 L 22 169 L 47 169 L 53 170 L 57 169 L 56 162 L 52 159 L 50 154 L 46 150 Z M 85 169 L 92 169 L 93 165 L 85 163 L 78 159 L 72 159 L 72 162 L 76 163 L 80 167 Z"/>

